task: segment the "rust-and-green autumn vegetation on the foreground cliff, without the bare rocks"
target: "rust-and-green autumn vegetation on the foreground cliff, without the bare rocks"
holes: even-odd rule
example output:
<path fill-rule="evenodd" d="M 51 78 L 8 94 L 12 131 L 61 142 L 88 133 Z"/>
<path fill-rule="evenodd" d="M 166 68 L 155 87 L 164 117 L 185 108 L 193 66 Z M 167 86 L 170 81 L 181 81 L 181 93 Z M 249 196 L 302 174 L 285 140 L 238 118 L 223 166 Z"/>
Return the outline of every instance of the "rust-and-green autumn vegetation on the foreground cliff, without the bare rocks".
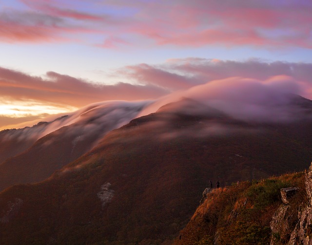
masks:
<path fill-rule="evenodd" d="M 307 202 L 303 172 L 214 189 L 197 207 L 175 245 L 270 244 L 270 222 L 282 203 L 280 189 L 287 187 L 299 187 L 290 206 L 300 209 L 302 202 Z M 294 227 L 297 221 L 297 215 L 293 215 L 288 223 Z M 280 244 L 289 241 L 290 232 L 278 235 Z"/>

